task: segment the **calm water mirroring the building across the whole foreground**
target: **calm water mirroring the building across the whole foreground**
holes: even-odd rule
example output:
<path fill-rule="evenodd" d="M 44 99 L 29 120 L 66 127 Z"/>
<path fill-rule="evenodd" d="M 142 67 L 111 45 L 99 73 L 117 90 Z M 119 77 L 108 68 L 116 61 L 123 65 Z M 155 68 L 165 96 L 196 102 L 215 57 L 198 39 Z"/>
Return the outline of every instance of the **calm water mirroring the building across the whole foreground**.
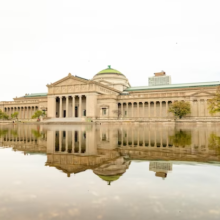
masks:
<path fill-rule="evenodd" d="M 220 128 L 0 126 L 0 219 L 220 219 Z"/>

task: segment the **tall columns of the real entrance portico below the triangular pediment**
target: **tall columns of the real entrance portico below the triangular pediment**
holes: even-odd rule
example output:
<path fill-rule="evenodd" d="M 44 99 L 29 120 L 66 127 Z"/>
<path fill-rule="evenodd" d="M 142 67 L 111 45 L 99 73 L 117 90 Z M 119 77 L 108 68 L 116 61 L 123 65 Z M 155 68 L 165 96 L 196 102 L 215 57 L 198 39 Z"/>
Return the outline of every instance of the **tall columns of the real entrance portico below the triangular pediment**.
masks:
<path fill-rule="evenodd" d="M 86 116 L 86 96 L 58 96 L 56 97 L 56 117 L 85 117 Z"/>

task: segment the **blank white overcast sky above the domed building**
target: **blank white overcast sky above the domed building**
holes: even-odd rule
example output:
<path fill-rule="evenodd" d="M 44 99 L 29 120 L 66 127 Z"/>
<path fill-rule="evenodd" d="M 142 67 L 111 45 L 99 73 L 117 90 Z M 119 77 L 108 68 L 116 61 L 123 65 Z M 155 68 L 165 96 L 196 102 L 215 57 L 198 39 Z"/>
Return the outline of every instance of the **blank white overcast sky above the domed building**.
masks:
<path fill-rule="evenodd" d="M 111 65 L 132 86 L 220 80 L 219 0 L 0 0 L 0 101 Z"/>

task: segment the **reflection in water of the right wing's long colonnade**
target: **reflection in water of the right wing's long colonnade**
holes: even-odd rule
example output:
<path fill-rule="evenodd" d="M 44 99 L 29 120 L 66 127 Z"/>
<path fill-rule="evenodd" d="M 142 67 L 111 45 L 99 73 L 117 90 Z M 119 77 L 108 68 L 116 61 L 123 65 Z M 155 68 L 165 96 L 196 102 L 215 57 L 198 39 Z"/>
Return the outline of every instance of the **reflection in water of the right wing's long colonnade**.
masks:
<path fill-rule="evenodd" d="M 150 148 L 176 148 L 208 150 L 209 138 L 212 131 L 206 129 L 193 129 L 191 131 L 175 131 L 174 129 L 145 128 L 133 129 L 131 127 L 118 130 L 119 147 L 150 147 Z M 220 130 L 214 133 L 220 136 Z M 176 138 L 175 134 L 177 135 Z M 176 139 L 173 141 L 173 139 Z"/>

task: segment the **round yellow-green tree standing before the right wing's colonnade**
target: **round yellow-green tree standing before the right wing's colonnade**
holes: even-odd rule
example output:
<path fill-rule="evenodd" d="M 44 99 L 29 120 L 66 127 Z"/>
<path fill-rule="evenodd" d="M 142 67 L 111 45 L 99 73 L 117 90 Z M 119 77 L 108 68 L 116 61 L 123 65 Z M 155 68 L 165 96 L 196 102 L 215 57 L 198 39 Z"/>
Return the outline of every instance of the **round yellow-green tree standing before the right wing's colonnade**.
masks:
<path fill-rule="evenodd" d="M 183 102 L 183 101 L 176 101 L 173 102 L 168 109 L 168 112 L 172 112 L 175 117 L 181 119 L 183 116 L 189 114 L 190 110 L 190 103 Z"/>

